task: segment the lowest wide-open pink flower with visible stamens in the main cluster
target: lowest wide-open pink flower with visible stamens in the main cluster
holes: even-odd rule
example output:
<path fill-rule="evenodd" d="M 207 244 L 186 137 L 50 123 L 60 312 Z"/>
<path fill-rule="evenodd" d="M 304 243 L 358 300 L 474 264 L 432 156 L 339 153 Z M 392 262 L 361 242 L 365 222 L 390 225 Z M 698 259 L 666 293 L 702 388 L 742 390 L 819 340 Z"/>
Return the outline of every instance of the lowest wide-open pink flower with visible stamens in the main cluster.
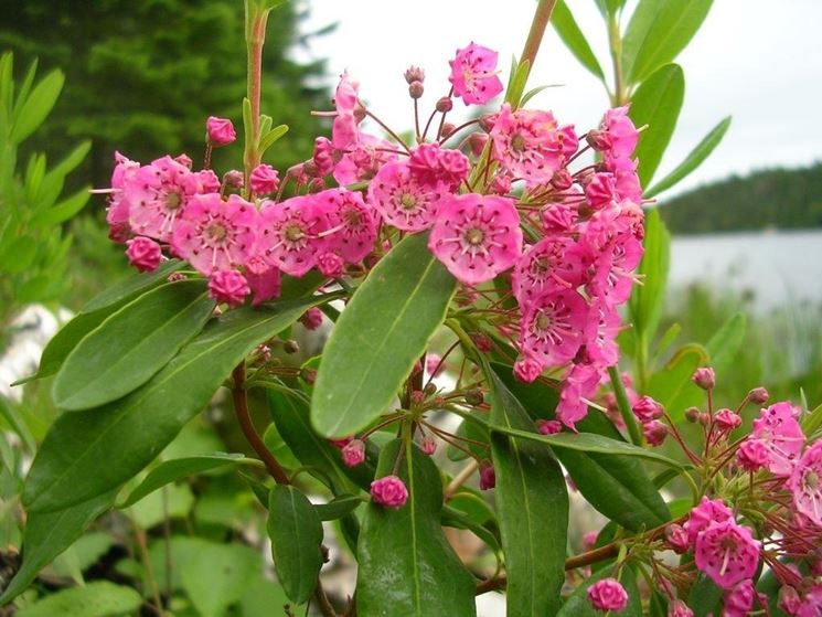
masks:
<path fill-rule="evenodd" d="M 588 319 L 585 299 L 574 290 L 543 296 L 530 305 L 520 321 L 523 353 L 545 365 L 574 359 Z"/>

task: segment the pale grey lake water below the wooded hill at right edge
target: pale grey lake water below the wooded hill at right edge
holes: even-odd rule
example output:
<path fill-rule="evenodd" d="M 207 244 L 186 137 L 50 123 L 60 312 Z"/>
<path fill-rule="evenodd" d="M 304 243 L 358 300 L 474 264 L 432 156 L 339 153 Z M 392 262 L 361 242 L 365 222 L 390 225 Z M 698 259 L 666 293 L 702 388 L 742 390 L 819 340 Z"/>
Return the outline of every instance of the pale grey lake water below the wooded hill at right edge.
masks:
<path fill-rule="evenodd" d="M 670 286 L 751 291 L 757 310 L 822 304 L 822 230 L 675 237 Z"/>

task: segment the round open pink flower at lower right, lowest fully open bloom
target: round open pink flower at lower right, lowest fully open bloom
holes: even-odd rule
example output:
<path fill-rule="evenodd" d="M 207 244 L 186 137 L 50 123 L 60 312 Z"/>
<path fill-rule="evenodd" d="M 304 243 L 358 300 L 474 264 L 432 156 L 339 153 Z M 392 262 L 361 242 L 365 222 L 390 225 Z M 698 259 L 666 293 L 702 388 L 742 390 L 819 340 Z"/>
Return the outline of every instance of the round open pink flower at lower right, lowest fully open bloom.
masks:
<path fill-rule="evenodd" d="M 748 528 L 733 520 L 712 522 L 696 538 L 694 561 L 717 586 L 730 589 L 756 573 L 759 545 Z"/>

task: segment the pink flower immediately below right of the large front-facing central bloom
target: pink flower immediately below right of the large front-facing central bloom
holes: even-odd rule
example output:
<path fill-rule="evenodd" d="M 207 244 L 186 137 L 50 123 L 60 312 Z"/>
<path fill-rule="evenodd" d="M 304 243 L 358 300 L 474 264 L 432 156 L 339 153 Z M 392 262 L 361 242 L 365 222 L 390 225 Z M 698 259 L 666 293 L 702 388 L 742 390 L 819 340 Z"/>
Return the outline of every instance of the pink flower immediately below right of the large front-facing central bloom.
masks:
<path fill-rule="evenodd" d="M 570 251 L 574 246 L 572 238 L 551 234 L 523 253 L 511 275 L 511 289 L 521 307 L 545 294 L 579 287 L 587 265 L 581 252 Z"/>

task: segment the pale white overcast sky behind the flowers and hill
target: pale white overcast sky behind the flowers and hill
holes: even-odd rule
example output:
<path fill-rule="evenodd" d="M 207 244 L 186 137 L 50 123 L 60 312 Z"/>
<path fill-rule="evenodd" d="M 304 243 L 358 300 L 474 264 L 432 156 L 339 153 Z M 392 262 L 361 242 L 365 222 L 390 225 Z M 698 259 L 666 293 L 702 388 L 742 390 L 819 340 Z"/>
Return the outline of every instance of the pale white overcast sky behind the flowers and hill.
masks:
<path fill-rule="evenodd" d="M 403 78 L 409 64 L 426 71 L 423 109 L 447 94 L 447 61 L 470 41 L 500 52 L 505 82 L 510 58 L 519 56 L 536 6 L 533 0 L 302 2 L 311 9 L 306 31 L 339 22 L 333 33 L 312 41 L 309 55 L 327 58 L 332 76 L 348 68 L 360 81 L 362 98 L 398 130 L 413 123 Z M 567 2 L 608 73 L 605 28 L 594 0 Z M 629 0 L 626 15 L 634 3 Z M 685 71 L 685 103 L 656 179 L 726 115 L 734 121 L 724 142 L 676 192 L 732 172 L 822 160 L 820 23 L 822 0 L 715 0 L 702 30 L 677 60 Z M 330 77 L 329 83 L 334 81 Z M 564 85 L 543 92 L 530 106 L 552 109 L 580 132 L 596 126 L 608 105 L 601 85 L 551 28 L 530 81 L 530 86 L 544 84 Z M 461 113 L 462 104 L 457 102 L 455 109 Z"/>

